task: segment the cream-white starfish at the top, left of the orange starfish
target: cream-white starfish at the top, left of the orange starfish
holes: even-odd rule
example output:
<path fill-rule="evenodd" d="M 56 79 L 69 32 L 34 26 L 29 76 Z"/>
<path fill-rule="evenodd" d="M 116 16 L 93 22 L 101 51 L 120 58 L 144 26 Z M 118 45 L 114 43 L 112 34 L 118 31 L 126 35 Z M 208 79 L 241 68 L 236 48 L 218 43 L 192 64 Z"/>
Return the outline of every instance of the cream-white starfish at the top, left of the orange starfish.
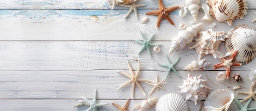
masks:
<path fill-rule="evenodd" d="M 136 19 L 138 19 L 138 12 L 137 12 L 137 7 L 141 7 L 141 6 L 146 6 L 146 4 L 138 4 L 135 5 L 135 2 L 132 2 L 130 5 L 125 5 L 125 4 L 120 4 L 120 6 L 125 6 L 125 7 L 129 7 L 130 10 L 127 12 L 127 14 L 125 15 L 124 19 L 126 19 L 130 13 L 132 12 L 132 10 L 134 10 L 135 13 L 135 17 Z"/>

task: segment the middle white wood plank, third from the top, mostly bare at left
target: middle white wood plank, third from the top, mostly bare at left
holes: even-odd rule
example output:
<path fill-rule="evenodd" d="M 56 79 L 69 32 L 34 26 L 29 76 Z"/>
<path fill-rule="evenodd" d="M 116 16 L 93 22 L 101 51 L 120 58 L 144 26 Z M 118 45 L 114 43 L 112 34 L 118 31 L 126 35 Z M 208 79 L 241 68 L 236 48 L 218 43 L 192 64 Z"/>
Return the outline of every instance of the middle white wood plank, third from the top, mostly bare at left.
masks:
<path fill-rule="evenodd" d="M 157 43 L 162 44 L 161 52 L 152 51 L 153 57 L 150 58 L 146 50 L 137 56 L 141 45 L 135 42 L 0 42 L 0 70 L 128 70 L 128 60 L 137 68 L 136 60 L 140 59 L 141 70 L 166 71 L 157 63 L 167 64 L 165 56 L 169 52 L 170 42 Z M 177 70 L 182 70 L 195 60 L 191 55 L 197 58 L 195 50 L 188 49 L 193 44 L 188 44 L 179 52 L 180 61 L 175 66 Z M 224 43 L 219 48 L 225 52 Z M 169 56 L 172 62 L 177 57 L 176 54 Z M 213 70 L 212 66 L 221 62 L 212 55 L 204 58 L 212 63 L 206 70 Z M 233 70 L 251 70 L 255 67 L 254 60 Z"/>

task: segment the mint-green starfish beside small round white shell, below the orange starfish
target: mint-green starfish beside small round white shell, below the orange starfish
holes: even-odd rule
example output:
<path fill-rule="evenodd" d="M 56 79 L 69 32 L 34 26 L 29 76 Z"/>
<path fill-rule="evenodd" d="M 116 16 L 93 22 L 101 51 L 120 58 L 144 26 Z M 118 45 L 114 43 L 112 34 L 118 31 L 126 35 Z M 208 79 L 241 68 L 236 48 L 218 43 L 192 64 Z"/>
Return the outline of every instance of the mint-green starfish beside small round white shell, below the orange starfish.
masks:
<path fill-rule="evenodd" d="M 151 56 L 152 54 L 151 54 L 150 47 L 159 46 L 159 45 L 161 45 L 161 44 L 159 44 L 159 43 L 151 43 L 151 40 L 153 39 L 155 33 L 153 33 L 153 34 L 151 35 L 151 37 L 149 37 L 148 40 L 144 37 L 144 35 L 143 35 L 143 33 L 142 33 L 141 31 L 140 31 L 140 34 L 141 34 L 141 37 L 142 37 L 142 39 L 143 39 L 143 42 L 142 42 L 142 41 L 138 41 L 138 40 L 135 40 L 135 42 L 138 43 L 138 44 L 141 44 L 141 45 L 143 45 L 143 46 L 142 46 L 142 48 L 139 49 L 137 55 L 139 55 L 144 49 L 147 49 L 148 55 L 149 55 L 150 57 L 152 57 L 152 56 Z"/>

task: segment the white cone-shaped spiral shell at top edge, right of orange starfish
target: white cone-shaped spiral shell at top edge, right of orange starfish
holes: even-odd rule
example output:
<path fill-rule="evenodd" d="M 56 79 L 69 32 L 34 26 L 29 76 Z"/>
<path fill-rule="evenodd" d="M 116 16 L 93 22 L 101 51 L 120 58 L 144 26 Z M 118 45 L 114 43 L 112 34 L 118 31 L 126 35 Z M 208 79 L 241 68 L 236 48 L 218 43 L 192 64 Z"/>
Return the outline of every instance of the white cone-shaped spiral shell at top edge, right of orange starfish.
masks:
<path fill-rule="evenodd" d="M 199 10 L 199 3 L 200 0 L 186 0 L 186 5 L 188 6 L 188 10 L 190 11 L 190 14 L 194 18 L 194 21 L 196 22 L 198 17 L 198 10 Z"/>

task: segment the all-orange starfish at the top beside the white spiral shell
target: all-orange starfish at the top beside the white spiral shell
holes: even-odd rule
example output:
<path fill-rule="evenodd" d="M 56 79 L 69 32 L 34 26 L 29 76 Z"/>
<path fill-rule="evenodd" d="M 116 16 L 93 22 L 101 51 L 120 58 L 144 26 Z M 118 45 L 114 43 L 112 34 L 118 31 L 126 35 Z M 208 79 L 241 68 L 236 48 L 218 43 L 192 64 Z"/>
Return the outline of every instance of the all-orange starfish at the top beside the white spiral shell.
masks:
<path fill-rule="evenodd" d="M 162 20 L 165 18 L 168 22 L 170 22 L 173 26 L 175 24 L 173 23 L 172 19 L 169 16 L 170 12 L 173 12 L 174 10 L 177 10 L 180 6 L 173 6 L 170 8 L 165 8 L 163 1 L 159 0 L 159 10 L 152 11 L 152 12 L 146 12 L 146 15 L 158 15 L 157 19 L 157 28 L 161 24 Z"/>

